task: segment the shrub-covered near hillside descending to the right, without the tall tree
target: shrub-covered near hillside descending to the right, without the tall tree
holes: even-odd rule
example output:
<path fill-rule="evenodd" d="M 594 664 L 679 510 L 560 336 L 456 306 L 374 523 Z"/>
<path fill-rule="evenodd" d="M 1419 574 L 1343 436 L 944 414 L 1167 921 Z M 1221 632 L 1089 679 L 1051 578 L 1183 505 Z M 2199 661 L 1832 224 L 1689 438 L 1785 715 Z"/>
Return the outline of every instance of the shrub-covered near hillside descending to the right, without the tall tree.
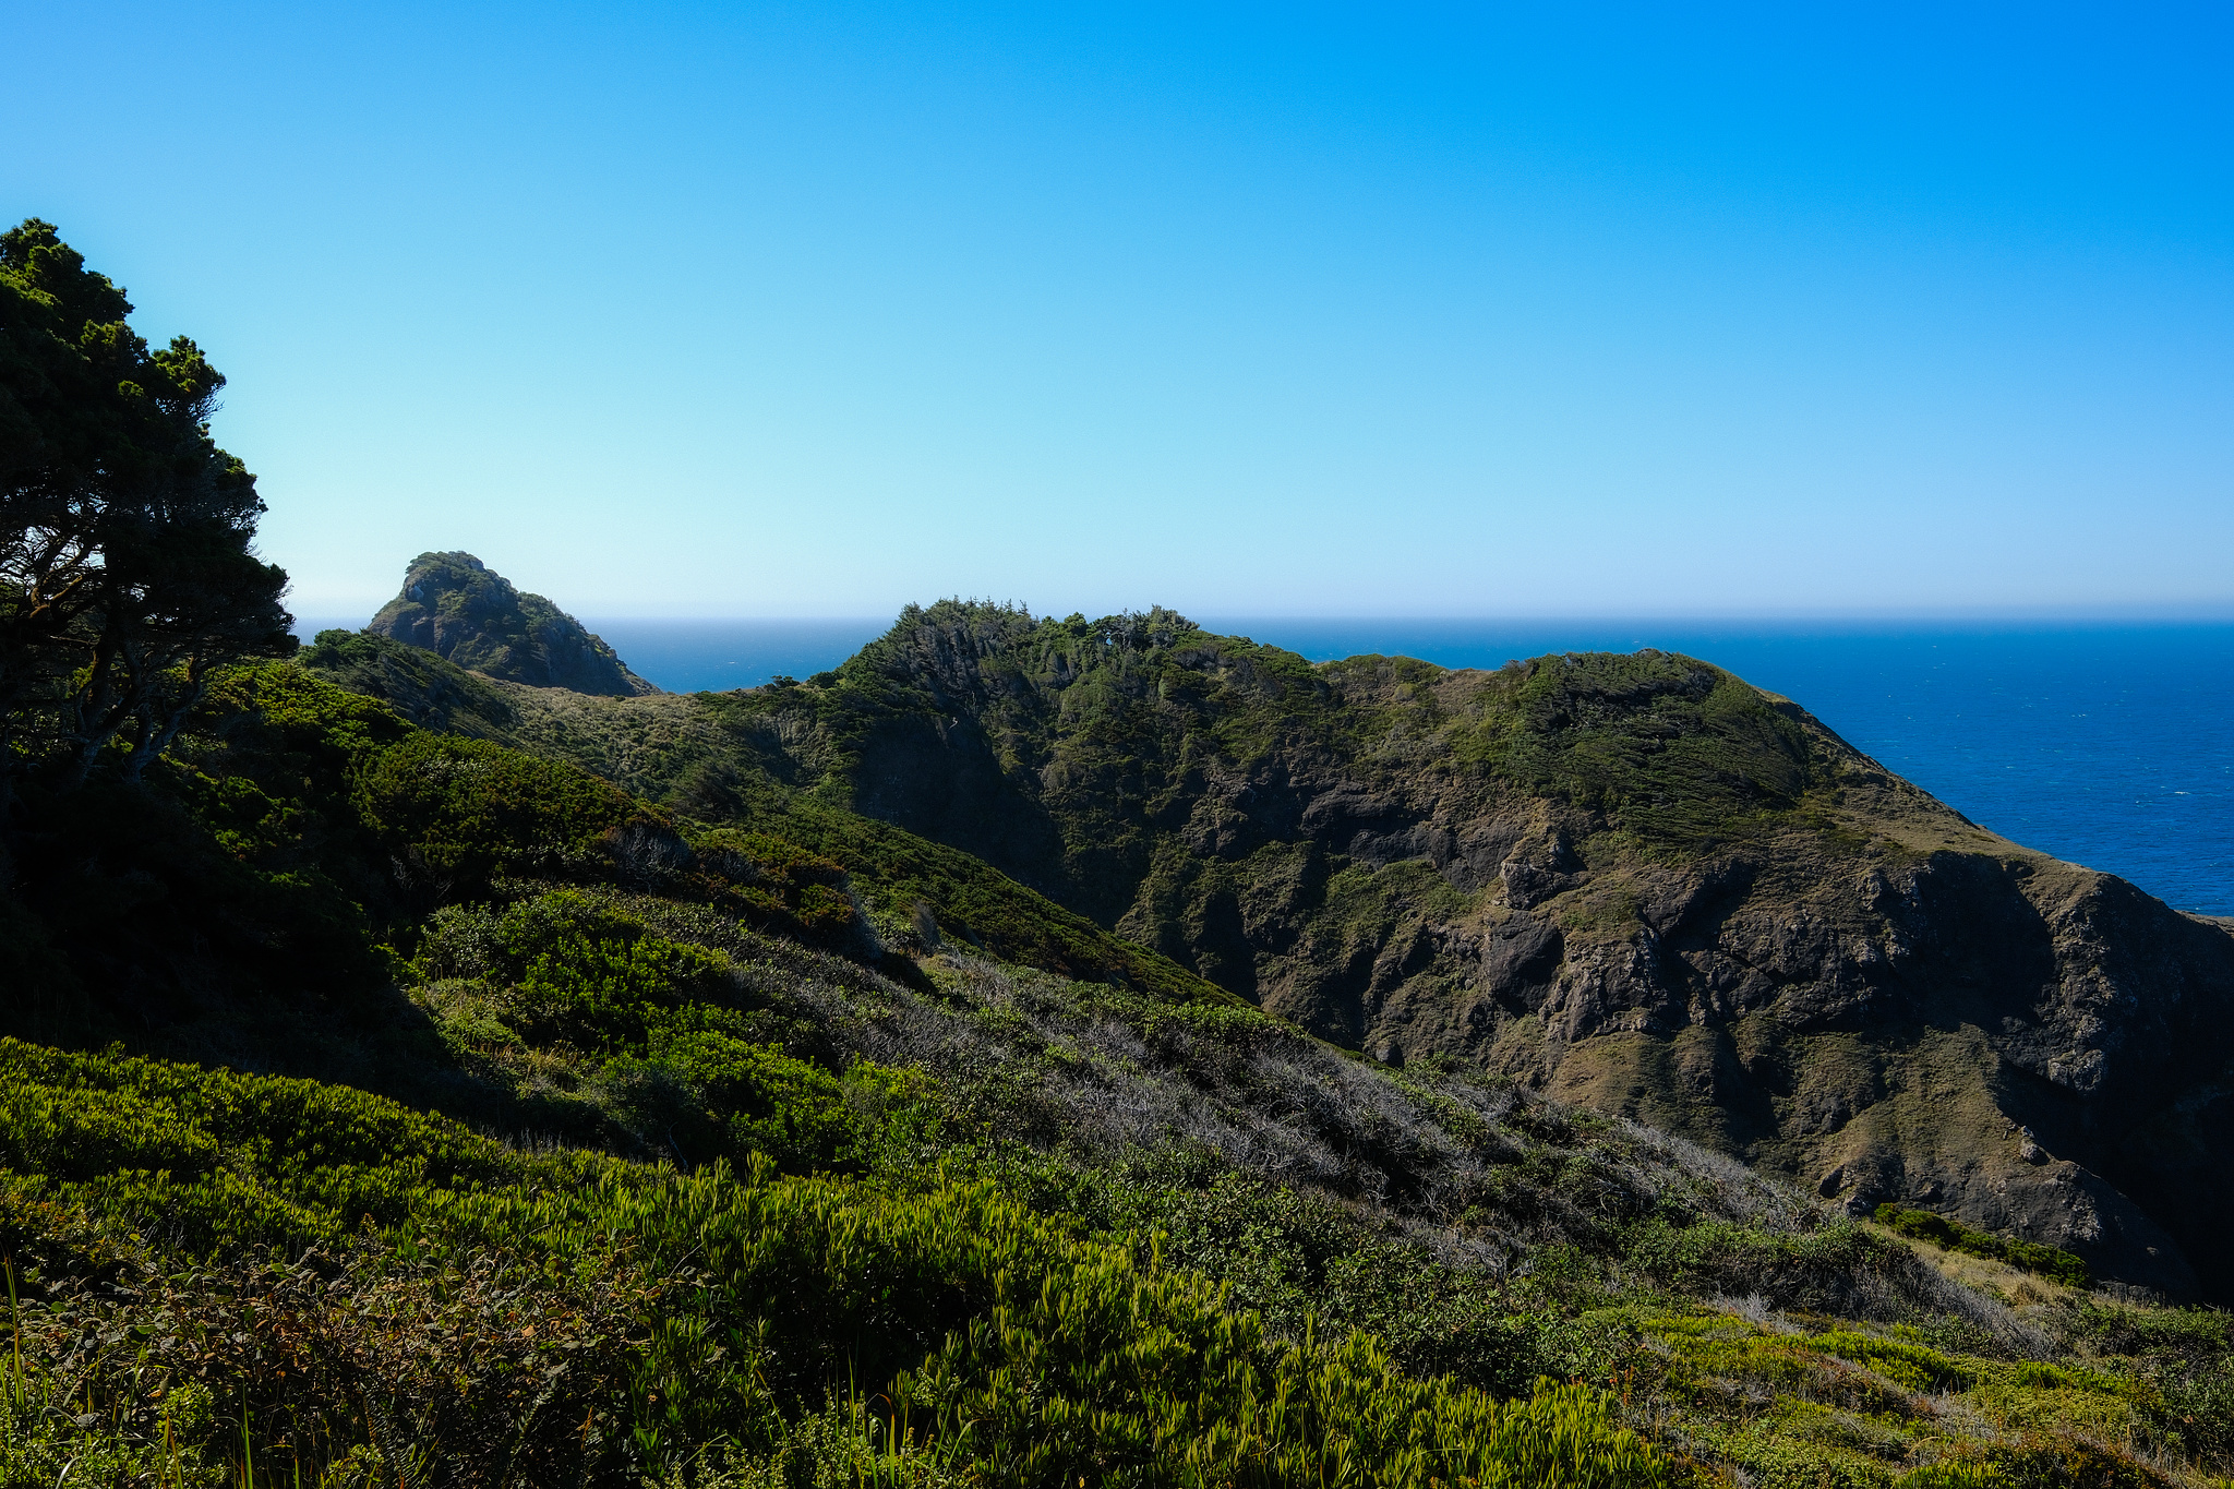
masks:
<path fill-rule="evenodd" d="M 804 859 L 661 857 L 657 808 L 286 667 L 219 703 L 152 790 L 36 804 L 22 866 L 76 873 L 18 877 L 47 987 L 13 1016 L 349 1085 L 0 1047 L 11 1473 L 217 1478 L 246 1411 L 337 1480 L 418 1440 L 494 1482 L 534 1438 L 536 1473 L 806 1482 L 889 1449 L 871 1386 L 932 1482 L 1419 1482 L 1436 1442 L 1535 1456 L 1512 1482 L 2227 1471 L 2221 1315 L 1957 1286 L 1680 1141 L 1231 1002 L 891 962 L 873 920 L 813 929 Z M 487 1308 L 509 1333 L 458 1355 Z M 1539 1373 L 1660 1447 L 1593 1397 L 1497 1415 Z"/>

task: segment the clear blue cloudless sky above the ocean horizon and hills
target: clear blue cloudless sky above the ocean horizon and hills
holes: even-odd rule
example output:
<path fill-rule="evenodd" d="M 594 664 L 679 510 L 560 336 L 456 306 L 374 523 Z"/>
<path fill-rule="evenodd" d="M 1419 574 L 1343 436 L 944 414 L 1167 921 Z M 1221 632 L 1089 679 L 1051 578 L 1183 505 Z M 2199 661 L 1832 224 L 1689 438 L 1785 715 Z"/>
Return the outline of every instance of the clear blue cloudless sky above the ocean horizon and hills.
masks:
<path fill-rule="evenodd" d="M 2234 614 L 2225 7 L 16 4 L 306 614 Z"/>

